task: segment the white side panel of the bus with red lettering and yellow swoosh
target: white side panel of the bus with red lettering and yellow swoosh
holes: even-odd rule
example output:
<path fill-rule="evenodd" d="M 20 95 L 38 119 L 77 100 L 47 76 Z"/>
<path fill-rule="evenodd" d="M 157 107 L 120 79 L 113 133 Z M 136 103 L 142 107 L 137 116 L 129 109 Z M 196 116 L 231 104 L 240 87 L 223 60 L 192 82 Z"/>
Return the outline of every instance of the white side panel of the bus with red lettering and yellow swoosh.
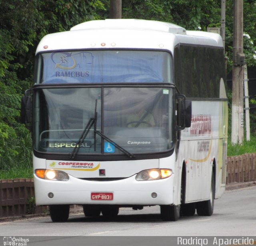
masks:
<path fill-rule="evenodd" d="M 203 104 L 203 106 L 202 106 Z M 212 171 L 216 198 L 221 194 L 222 143 L 227 122 L 223 101 L 192 101 L 192 124 L 182 131 L 179 162 L 186 162 L 186 202 L 210 199 Z M 215 165 L 215 166 L 214 166 Z"/>

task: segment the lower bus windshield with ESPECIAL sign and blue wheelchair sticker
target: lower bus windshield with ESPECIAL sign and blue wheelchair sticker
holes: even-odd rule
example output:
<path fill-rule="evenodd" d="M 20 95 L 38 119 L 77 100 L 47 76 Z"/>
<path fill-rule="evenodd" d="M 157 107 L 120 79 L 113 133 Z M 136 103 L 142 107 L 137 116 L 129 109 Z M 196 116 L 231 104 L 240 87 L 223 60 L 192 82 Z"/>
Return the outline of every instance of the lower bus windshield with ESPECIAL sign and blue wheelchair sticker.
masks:
<path fill-rule="evenodd" d="M 132 154 L 168 151 L 173 147 L 173 91 L 166 87 L 36 89 L 34 148 L 69 155 L 97 115 L 78 154 L 123 154 L 113 143 Z"/>

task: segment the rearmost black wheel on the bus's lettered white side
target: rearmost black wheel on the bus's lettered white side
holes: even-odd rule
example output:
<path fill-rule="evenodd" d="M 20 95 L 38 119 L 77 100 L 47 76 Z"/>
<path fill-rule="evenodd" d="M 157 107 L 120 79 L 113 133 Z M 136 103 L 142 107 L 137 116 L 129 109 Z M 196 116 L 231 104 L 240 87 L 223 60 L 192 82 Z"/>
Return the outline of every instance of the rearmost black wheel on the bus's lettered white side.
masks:
<path fill-rule="evenodd" d="M 212 183 L 211 183 L 211 191 L 210 191 L 210 200 L 198 202 L 196 204 L 196 212 L 199 216 L 211 216 L 214 208 L 214 177 L 212 173 Z"/>

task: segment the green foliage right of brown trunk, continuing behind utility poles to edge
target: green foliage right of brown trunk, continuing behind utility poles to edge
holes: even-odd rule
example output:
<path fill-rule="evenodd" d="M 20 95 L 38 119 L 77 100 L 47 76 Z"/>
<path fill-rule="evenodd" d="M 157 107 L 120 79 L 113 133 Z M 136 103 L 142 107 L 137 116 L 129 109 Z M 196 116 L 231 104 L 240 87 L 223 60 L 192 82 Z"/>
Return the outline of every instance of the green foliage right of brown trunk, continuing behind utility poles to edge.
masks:
<path fill-rule="evenodd" d="M 228 71 L 233 56 L 233 1 L 226 0 L 226 42 Z M 256 66 L 256 2 L 244 0 L 244 53 L 248 66 Z M 123 18 L 172 22 L 187 30 L 207 31 L 220 27 L 220 0 L 123 0 Z M 250 38 L 248 38 L 250 37 Z"/>

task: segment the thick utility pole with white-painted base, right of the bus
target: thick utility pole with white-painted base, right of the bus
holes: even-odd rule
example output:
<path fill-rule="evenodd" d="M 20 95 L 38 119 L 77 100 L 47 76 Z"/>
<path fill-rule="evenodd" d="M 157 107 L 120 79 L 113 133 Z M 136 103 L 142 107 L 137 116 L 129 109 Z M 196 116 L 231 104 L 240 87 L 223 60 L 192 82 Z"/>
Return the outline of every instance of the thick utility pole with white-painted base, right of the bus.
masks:
<path fill-rule="evenodd" d="M 234 0 L 233 81 L 232 81 L 232 144 L 244 142 L 244 49 L 243 0 Z"/>

